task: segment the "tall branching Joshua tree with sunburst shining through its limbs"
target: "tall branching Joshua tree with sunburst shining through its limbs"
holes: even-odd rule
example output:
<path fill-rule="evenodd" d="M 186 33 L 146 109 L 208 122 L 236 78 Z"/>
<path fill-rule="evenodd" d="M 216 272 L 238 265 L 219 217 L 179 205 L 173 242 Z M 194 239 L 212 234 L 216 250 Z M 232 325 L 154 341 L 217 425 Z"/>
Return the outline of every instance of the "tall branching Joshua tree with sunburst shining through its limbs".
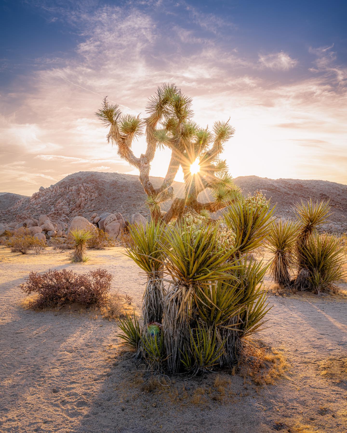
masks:
<path fill-rule="evenodd" d="M 239 195 L 233 184 L 225 160 L 218 157 L 223 144 L 233 136 L 234 129 L 227 122 L 215 122 L 212 131 L 202 129 L 193 120 L 191 98 L 182 94 L 174 84 L 158 87 L 157 93 L 149 98 L 146 111 L 148 117 L 130 114 L 122 115 L 118 104 L 110 104 L 106 97 L 96 116 L 110 127 L 107 142 L 116 144 L 118 155 L 136 167 L 139 180 L 146 192 L 147 204 L 154 221 L 181 218 L 188 211 L 202 210 L 215 212 L 227 206 Z M 131 150 L 133 139 L 143 134 L 145 128 L 146 152 L 137 158 Z M 169 168 L 162 185 L 154 188 L 149 180 L 150 163 L 156 149 L 167 147 L 171 150 Z M 185 180 L 185 195 L 174 198 L 172 182 L 181 165 Z M 198 194 L 210 188 L 214 201 L 200 203 Z M 165 213 L 161 205 L 174 199 Z"/>

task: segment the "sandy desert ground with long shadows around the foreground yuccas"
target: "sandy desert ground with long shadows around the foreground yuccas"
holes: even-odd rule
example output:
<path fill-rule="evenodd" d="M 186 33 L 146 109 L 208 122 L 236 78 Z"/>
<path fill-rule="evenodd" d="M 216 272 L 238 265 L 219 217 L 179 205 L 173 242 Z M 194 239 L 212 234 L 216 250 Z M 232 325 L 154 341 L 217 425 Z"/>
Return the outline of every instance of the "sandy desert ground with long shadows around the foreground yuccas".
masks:
<path fill-rule="evenodd" d="M 308 432 L 347 431 L 347 382 L 323 373 L 327 359 L 340 368 L 347 357 L 346 298 L 269 296 L 273 308 L 257 338 L 285 354 L 288 378 L 259 388 L 236 374 L 226 398 L 197 404 L 194 390 L 210 386 L 213 374 L 172 378 L 149 392 L 148 376 L 119 354 L 117 322 L 20 307 L 19 284 L 30 271 L 102 267 L 114 274 L 112 290 L 139 308 L 144 277 L 122 249 L 89 255 L 77 265 L 52 250 L 19 255 L 0 247 L 1 432 L 304 432 L 300 423 Z"/>

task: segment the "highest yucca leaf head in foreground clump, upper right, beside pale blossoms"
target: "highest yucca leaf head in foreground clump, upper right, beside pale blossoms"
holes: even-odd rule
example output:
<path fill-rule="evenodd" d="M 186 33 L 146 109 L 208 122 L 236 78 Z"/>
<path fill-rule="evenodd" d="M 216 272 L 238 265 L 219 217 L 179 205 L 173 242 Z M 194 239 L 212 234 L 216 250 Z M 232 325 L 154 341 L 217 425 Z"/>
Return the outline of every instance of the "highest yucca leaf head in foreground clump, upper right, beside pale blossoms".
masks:
<path fill-rule="evenodd" d="M 235 249 L 240 257 L 256 249 L 265 239 L 275 207 L 261 193 L 239 197 L 223 213 L 225 223 L 235 235 Z"/>

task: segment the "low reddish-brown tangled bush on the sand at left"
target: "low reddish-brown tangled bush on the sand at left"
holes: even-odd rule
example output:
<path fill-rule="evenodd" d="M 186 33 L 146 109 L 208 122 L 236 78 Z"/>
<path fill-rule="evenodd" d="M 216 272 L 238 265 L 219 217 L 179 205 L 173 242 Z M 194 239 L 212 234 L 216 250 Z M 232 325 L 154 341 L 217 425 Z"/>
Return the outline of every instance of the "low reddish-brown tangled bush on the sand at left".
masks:
<path fill-rule="evenodd" d="M 39 294 L 35 301 L 29 302 L 30 308 L 56 307 L 67 302 L 101 307 L 108 302 L 112 279 L 113 275 L 106 269 L 89 271 L 87 274 L 54 269 L 44 274 L 30 272 L 20 288 L 28 295 Z"/>

